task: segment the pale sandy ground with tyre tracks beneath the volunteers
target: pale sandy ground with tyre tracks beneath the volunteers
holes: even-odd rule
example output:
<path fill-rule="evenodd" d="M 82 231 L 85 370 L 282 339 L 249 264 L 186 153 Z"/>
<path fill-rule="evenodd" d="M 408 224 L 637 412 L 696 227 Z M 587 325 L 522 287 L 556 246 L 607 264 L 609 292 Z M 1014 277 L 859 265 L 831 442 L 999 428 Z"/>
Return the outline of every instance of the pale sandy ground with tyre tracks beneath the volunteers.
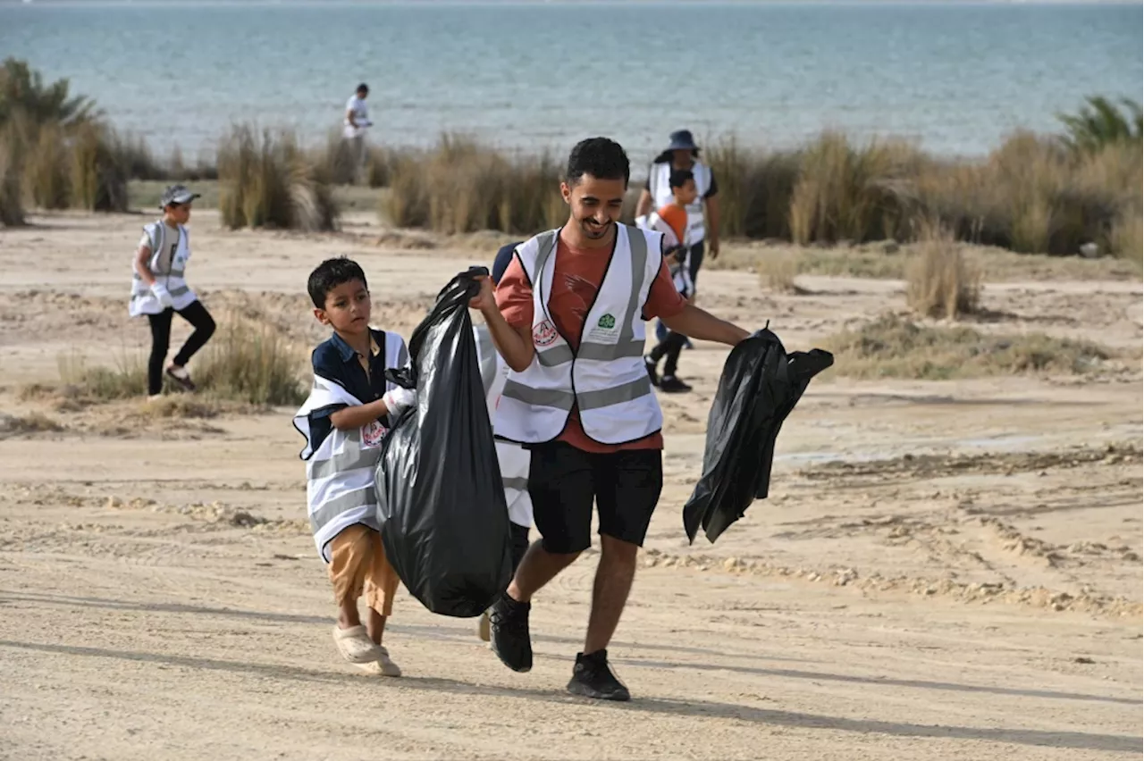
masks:
<path fill-rule="evenodd" d="M 635 699 L 563 690 L 593 554 L 538 598 L 532 673 L 406 595 L 387 634 L 406 676 L 370 679 L 329 639 L 292 410 L 188 420 L 21 399 L 58 383 L 61 357 L 113 365 L 145 344 L 126 313 L 144 221 L 0 232 L 0 409 L 64 426 L 0 431 L 0 758 L 1144 756 L 1144 368 L 827 374 L 779 438 L 771 498 L 689 546 L 681 511 L 724 357 L 700 345 L 682 366 L 696 393 L 664 400 L 667 486 L 610 651 Z M 225 233 L 200 213 L 192 234 L 190 280 L 216 315 L 269 320 L 299 347 L 321 336 L 303 283 L 327 255 L 362 262 L 375 322 L 406 335 L 451 274 L 490 258 L 396 250 L 367 217 L 303 237 Z M 770 319 L 788 349 L 903 302 L 895 281 L 800 285 L 776 296 L 713 271 L 701 302 Z M 1008 281 L 978 327 L 1138 351 L 1142 303 L 1138 280 Z"/>

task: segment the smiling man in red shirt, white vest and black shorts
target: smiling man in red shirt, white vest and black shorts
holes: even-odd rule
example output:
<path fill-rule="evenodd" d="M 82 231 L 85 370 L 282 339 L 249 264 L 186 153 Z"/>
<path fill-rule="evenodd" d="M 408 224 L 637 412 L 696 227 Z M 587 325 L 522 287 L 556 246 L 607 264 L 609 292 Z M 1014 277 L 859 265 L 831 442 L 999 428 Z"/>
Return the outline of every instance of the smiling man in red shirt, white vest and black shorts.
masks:
<path fill-rule="evenodd" d="M 542 537 L 493 604 L 493 650 L 514 671 L 532 667 L 530 601 L 591 546 L 595 504 L 601 558 L 567 689 L 609 700 L 630 697 L 606 648 L 664 481 L 664 416 L 644 368 L 644 321 L 659 317 L 729 345 L 747 337 L 680 295 L 662 235 L 618 223 L 629 176 L 617 143 L 579 143 L 561 183 L 569 221 L 517 247 L 495 290 L 484 279 L 471 303 L 510 368 L 494 432 L 531 450 L 529 495 Z"/>

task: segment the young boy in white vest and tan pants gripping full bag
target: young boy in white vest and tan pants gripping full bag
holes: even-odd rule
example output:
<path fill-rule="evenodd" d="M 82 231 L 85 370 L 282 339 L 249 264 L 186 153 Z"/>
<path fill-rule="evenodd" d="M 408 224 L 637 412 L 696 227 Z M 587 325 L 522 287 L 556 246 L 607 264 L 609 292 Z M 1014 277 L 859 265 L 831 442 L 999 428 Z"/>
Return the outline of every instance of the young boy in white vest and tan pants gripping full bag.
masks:
<path fill-rule="evenodd" d="M 370 327 L 365 273 L 344 257 L 327 259 L 307 285 L 313 315 L 333 335 L 313 350 L 313 390 L 294 416 L 307 439 L 307 500 L 310 527 L 328 563 L 337 604 L 334 643 L 341 656 L 365 671 L 400 676 L 381 646 L 399 579 L 386 559 L 378 522 L 374 470 L 381 441 L 415 393 L 386 380 L 386 369 L 408 359 L 396 333 Z M 370 608 L 358 616 L 363 592 Z"/>

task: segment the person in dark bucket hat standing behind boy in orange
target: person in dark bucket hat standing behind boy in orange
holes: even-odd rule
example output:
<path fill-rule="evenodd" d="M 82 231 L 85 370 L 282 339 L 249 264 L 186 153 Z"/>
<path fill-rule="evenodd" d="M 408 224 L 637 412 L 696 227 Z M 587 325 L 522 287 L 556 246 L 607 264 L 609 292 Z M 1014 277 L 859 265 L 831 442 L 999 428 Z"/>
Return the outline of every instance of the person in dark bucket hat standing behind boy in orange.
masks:
<path fill-rule="evenodd" d="M 704 264 L 705 249 L 712 259 L 718 258 L 718 183 L 710 167 L 699 160 L 699 146 L 691 130 L 677 129 L 668 137 L 668 145 L 656 157 L 648 169 L 648 184 L 639 193 L 636 203 L 636 217 L 645 217 L 653 209 L 660 209 L 673 202 L 672 171 L 684 169 L 696 179 L 696 200 L 688 205 L 688 240 L 690 280 L 693 289 L 698 288 L 699 269 Z M 656 326 L 656 336 L 660 341 L 667 337 L 667 328 L 662 322 Z M 691 342 L 685 344 L 691 347 Z"/>

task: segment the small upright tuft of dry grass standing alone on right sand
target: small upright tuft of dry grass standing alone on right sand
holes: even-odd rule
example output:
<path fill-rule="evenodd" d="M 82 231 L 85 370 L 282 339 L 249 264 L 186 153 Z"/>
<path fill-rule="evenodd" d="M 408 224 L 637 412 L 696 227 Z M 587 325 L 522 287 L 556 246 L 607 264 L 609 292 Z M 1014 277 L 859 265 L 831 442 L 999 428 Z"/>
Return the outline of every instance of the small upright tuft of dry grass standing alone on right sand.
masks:
<path fill-rule="evenodd" d="M 923 234 L 906 266 L 906 304 L 921 317 L 956 319 L 980 306 L 982 275 L 948 231 Z"/>

